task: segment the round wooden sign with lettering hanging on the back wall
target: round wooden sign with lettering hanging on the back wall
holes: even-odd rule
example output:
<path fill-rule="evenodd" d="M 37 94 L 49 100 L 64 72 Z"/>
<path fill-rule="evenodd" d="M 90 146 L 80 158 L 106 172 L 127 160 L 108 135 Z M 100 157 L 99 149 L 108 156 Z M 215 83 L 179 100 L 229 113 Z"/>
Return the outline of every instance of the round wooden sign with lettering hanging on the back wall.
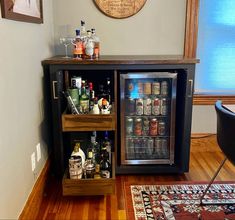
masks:
<path fill-rule="evenodd" d="M 113 18 L 127 18 L 143 8 L 147 0 L 94 0 L 97 7 Z"/>

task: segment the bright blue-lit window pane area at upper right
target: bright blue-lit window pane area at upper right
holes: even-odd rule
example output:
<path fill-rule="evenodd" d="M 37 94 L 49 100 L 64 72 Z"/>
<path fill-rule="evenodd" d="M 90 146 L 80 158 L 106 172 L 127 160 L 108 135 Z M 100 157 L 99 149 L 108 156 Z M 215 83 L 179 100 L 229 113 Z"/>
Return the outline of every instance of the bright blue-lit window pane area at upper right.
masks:
<path fill-rule="evenodd" d="M 235 1 L 201 0 L 195 94 L 235 95 Z"/>

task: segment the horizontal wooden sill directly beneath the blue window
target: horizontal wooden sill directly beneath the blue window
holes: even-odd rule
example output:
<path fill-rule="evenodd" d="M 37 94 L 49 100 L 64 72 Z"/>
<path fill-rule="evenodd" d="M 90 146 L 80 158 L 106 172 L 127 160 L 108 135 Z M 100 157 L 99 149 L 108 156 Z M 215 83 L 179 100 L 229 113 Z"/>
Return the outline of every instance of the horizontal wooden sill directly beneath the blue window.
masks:
<path fill-rule="evenodd" d="M 234 95 L 194 95 L 193 105 L 214 105 L 217 100 L 221 100 L 223 104 L 235 104 Z"/>

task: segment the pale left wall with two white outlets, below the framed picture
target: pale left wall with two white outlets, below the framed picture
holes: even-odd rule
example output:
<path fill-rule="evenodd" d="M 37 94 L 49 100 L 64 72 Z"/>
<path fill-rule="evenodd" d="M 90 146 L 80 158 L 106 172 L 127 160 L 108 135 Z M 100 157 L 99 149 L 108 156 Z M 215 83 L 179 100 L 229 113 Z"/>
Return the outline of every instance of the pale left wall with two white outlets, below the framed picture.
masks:
<path fill-rule="evenodd" d="M 18 218 L 48 157 L 41 61 L 53 54 L 52 1 L 43 6 L 44 24 L 3 19 L 0 12 L 0 219 Z M 39 142 L 42 159 L 33 173 L 30 156 Z"/>

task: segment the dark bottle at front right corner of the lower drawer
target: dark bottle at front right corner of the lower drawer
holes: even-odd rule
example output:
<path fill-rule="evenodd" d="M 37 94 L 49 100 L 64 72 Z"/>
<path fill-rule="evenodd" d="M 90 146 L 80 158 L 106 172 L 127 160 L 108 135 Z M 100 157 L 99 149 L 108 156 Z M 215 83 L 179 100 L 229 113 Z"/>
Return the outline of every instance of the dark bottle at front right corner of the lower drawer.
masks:
<path fill-rule="evenodd" d="M 105 147 L 102 148 L 102 155 L 100 161 L 100 174 L 102 178 L 111 177 L 111 163 L 109 161 L 108 152 Z"/>

